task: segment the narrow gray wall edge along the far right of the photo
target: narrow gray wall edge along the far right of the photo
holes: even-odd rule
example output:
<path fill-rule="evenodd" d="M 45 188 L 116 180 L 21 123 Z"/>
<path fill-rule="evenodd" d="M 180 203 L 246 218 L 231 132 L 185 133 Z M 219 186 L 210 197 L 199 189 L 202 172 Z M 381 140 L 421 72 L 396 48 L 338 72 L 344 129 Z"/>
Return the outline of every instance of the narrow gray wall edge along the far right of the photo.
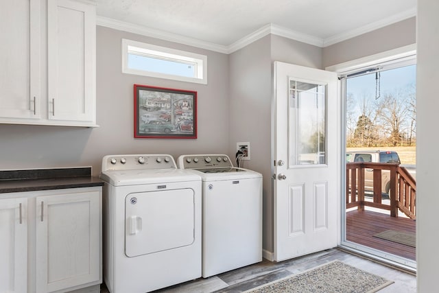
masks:
<path fill-rule="evenodd" d="M 437 292 L 439 1 L 418 0 L 416 72 L 416 261 L 418 292 Z"/>

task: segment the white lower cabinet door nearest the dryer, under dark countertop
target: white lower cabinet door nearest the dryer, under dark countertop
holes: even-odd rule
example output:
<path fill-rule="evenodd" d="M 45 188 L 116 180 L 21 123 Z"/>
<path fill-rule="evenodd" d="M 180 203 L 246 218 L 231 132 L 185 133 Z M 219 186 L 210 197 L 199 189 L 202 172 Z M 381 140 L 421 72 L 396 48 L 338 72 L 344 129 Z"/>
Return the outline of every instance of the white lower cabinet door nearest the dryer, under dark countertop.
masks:
<path fill-rule="evenodd" d="M 101 279 L 101 191 L 36 198 L 36 292 Z"/>

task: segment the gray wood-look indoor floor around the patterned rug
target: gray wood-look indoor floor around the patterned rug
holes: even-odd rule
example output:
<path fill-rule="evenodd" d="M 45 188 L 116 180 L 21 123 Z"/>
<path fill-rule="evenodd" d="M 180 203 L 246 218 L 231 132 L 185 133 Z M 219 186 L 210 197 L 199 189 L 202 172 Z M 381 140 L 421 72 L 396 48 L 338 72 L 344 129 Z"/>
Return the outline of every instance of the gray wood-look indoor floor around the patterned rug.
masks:
<path fill-rule="evenodd" d="M 281 279 L 289 275 L 300 274 L 305 270 L 315 268 L 333 260 L 340 260 L 351 266 L 377 274 L 385 279 L 394 281 L 392 285 L 380 290 L 380 292 L 412 293 L 416 292 L 416 277 L 407 272 L 402 272 L 381 263 L 370 261 L 337 248 L 313 253 L 304 257 L 289 259 L 287 261 L 272 262 L 264 259 L 260 263 L 246 266 L 217 276 L 206 279 L 200 278 L 169 288 L 154 291 L 154 293 L 237 293 L 244 292 L 259 285 Z M 102 293 L 107 293 L 105 285 L 102 285 Z M 129 292 L 126 292 L 129 293 Z"/>

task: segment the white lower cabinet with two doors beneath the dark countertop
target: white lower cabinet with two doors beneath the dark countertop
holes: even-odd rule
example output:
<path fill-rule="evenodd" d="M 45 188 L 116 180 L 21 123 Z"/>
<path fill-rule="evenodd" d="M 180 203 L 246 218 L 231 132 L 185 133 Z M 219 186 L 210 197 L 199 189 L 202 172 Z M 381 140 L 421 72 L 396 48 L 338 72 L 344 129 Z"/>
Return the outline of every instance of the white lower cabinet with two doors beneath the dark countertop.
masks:
<path fill-rule="evenodd" d="M 102 187 L 8 195 L 23 197 L 0 199 L 0 293 L 98 290 Z"/>

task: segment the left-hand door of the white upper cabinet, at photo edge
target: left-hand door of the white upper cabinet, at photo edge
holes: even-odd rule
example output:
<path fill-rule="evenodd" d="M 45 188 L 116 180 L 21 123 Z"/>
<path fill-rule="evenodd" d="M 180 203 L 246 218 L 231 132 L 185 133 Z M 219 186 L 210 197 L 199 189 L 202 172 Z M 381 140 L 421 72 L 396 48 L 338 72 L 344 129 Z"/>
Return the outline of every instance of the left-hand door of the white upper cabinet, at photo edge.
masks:
<path fill-rule="evenodd" d="M 0 122 L 40 117 L 41 1 L 0 1 Z"/>

